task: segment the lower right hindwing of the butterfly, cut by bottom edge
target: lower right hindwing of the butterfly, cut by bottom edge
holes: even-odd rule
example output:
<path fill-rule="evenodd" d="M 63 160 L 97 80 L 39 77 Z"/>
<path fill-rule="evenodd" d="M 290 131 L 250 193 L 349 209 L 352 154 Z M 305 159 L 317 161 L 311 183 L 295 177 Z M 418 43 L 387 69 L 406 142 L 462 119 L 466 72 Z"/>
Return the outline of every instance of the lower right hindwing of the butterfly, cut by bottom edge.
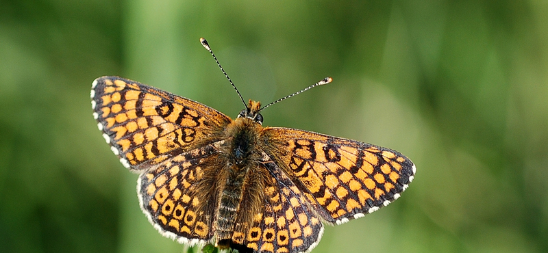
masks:
<path fill-rule="evenodd" d="M 262 165 L 269 174 L 263 192 L 264 208 L 254 215 L 251 227 L 236 228 L 232 241 L 253 252 L 310 252 L 323 234 L 321 218 L 274 161 L 267 158 Z"/>

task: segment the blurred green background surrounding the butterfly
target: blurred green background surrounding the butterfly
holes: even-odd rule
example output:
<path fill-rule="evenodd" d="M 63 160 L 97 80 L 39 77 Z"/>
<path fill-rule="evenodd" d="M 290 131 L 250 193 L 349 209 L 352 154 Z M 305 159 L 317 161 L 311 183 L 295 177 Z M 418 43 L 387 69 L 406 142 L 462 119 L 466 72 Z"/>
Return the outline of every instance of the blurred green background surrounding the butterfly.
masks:
<path fill-rule="evenodd" d="M 182 252 L 97 131 L 119 75 L 399 150 L 415 181 L 320 252 L 548 252 L 547 1 L 0 1 L 0 251 Z"/>

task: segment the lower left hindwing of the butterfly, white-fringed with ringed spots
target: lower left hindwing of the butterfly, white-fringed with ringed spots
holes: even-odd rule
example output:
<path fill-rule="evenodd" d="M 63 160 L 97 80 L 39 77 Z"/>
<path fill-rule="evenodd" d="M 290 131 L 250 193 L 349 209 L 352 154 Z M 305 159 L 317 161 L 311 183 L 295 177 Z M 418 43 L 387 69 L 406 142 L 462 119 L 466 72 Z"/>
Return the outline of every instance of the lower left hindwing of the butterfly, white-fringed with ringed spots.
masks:
<path fill-rule="evenodd" d="M 224 141 L 175 155 L 143 172 L 137 183 L 141 209 L 165 237 L 188 245 L 213 237 L 214 170 Z"/>

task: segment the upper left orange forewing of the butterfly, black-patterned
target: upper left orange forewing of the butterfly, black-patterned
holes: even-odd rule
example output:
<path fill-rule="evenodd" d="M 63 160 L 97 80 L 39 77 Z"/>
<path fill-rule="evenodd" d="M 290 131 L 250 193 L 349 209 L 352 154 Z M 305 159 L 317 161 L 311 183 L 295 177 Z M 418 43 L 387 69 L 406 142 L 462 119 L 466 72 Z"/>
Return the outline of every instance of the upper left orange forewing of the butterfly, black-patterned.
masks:
<path fill-rule="evenodd" d="M 130 170 L 216 142 L 232 122 L 206 105 L 120 77 L 95 79 L 90 96 L 97 126 Z"/>

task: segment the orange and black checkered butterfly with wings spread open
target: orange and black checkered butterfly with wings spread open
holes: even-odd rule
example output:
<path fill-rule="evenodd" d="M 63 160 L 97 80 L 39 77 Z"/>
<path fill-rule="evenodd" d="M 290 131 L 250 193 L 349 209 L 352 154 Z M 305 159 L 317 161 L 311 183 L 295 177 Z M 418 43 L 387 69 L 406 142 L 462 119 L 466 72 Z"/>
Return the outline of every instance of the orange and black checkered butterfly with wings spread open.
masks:
<path fill-rule="evenodd" d="M 140 173 L 142 211 L 162 235 L 179 243 L 310 252 L 323 223 L 343 224 L 385 207 L 415 174 L 412 161 L 395 150 L 262 127 L 264 107 L 256 101 L 232 120 L 120 77 L 93 81 L 91 98 L 112 152 Z"/>

